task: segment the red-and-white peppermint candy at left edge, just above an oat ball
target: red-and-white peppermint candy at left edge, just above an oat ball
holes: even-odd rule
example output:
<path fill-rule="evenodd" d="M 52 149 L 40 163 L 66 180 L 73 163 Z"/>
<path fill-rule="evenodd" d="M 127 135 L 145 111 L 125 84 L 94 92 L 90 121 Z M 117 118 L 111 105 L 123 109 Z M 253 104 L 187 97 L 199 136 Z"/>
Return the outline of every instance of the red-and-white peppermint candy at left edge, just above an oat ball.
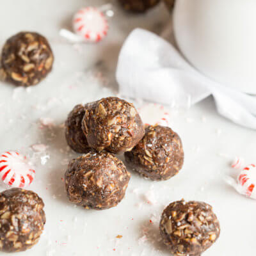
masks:
<path fill-rule="evenodd" d="M 13 188 L 25 188 L 33 182 L 35 170 L 28 164 L 26 156 L 15 151 L 0 155 L 0 179 Z"/>

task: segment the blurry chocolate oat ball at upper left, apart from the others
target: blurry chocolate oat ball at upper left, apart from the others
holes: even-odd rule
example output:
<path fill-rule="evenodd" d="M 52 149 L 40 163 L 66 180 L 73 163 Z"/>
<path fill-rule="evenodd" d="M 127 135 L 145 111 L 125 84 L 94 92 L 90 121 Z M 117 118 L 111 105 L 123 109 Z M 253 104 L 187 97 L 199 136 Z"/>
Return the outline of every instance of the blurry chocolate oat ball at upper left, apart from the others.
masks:
<path fill-rule="evenodd" d="M 16 85 L 35 85 L 49 74 L 53 60 L 51 47 L 44 36 L 20 32 L 4 44 L 0 76 Z"/>

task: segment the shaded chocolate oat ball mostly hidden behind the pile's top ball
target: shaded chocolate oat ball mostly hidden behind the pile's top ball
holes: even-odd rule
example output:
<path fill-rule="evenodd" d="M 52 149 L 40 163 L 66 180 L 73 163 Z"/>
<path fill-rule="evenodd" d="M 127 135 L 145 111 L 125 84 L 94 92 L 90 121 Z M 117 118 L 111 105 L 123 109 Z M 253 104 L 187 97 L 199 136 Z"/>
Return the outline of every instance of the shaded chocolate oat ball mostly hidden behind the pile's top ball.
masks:
<path fill-rule="evenodd" d="M 88 153 L 90 147 L 82 130 L 82 120 L 85 106 L 79 104 L 69 113 L 65 122 L 65 137 L 72 150 L 78 153 Z"/>

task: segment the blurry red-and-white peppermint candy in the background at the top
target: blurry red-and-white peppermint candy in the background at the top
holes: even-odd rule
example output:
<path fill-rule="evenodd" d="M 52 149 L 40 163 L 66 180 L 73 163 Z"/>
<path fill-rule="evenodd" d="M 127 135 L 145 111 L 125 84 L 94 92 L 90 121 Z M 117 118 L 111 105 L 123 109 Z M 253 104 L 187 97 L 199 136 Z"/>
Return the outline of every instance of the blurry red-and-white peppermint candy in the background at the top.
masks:
<path fill-rule="evenodd" d="M 95 7 L 79 10 L 73 19 L 74 31 L 85 42 L 99 42 L 108 33 L 108 21 L 104 14 Z"/>

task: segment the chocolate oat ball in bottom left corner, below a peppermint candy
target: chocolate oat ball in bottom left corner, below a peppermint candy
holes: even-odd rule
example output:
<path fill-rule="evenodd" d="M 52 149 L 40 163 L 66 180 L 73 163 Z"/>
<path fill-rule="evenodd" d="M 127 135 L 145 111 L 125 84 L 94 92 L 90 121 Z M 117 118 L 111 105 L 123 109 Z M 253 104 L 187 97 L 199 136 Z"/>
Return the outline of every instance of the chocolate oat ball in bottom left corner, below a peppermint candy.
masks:
<path fill-rule="evenodd" d="M 43 200 L 20 188 L 0 193 L 0 250 L 21 252 L 34 246 L 44 230 Z"/>

